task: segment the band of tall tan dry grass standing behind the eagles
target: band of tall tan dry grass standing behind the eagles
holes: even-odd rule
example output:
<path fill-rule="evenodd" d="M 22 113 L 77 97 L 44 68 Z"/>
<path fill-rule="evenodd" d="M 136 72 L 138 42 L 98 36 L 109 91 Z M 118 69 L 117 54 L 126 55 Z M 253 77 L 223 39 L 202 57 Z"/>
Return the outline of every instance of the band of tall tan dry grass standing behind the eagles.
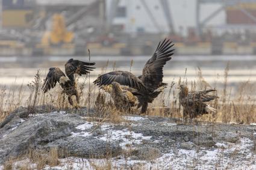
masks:
<path fill-rule="evenodd" d="M 107 71 L 109 62 L 102 68 L 102 73 Z M 134 62 L 131 61 L 130 70 Z M 115 70 L 115 64 L 113 64 L 113 70 Z M 178 82 L 174 80 L 170 83 L 169 87 L 161 93 L 152 104 L 149 105 L 148 115 L 170 118 L 183 118 L 182 107 L 178 102 L 178 91 L 176 87 L 180 83 L 186 84 L 190 91 L 205 90 L 212 87 L 203 76 L 203 71 L 198 68 L 198 79 L 193 82 L 187 82 L 186 72 L 183 78 L 180 78 Z M 256 122 L 256 107 L 254 99 L 254 91 L 256 86 L 250 81 L 240 84 L 238 91 L 232 91 L 228 87 L 228 73 L 229 65 L 226 66 L 223 76 L 223 88 L 217 89 L 217 96 L 219 100 L 211 102 L 211 106 L 217 108 L 216 115 L 202 115 L 198 117 L 198 120 L 210 121 L 210 122 L 223 122 L 223 123 L 244 123 L 249 124 Z M 119 112 L 111 102 L 111 97 L 99 91 L 98 87 L 95 87 L 90 80 L 90 76 L 79 79 L 76 77 L 77 88 L 80 96 L 80 105 L 89 107 L 90 120 L 101 122 L 110 121 L 113 123 L 120 123 L 123 121 L 122 115 L 126 114 L 139 114 L 139 110 L 133 112 Z M 72 106 L 67 102 L 67 97 L 61 94 L 61 87 L 57 85 L 49 93 L 43 94 L 40 90 L 42 88 L 42 76 L 38 71 L 34 81 L 29 83 L 27 87 L 20 86 L 17 88 L 15 82 L 13 87 L 7 89 L 5 87 L 0 88 L 0 121 L 7 117 L 10 112 L 19 106 L 28 106 L 28 114 L 36 114 L 36 106 L 38 105 L 53 105 L 59 110 L 70 109 Z M 25 95 L 29 91 L 29 94 Z M 24 100 L 27 99 L 27 100 Z M 96 111 L 90 113 L 91 109 Z"/>

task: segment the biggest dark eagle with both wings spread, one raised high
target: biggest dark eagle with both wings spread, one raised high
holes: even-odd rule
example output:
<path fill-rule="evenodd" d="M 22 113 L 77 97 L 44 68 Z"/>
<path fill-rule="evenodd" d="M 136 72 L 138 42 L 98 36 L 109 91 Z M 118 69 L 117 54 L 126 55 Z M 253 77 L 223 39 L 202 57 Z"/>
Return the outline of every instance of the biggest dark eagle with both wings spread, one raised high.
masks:
<path fill-rule="evenodd" d="M 167 86 L 163 83 L 163 67 L 172 58 L 173 45 L 172 41 L 167 39 L 160 41 L 152 57 L 146 62 L 141 76 L 137 77 L 129 71 L 111 71 L 100 75 L 93 83 L 102 87 L 117 82 L 136 89 L 140 94 L 135 94 L 139 100 L 137 108 L 142 107 L 141 113 L 144 114 L 148 103 L 152 103 Z"/>

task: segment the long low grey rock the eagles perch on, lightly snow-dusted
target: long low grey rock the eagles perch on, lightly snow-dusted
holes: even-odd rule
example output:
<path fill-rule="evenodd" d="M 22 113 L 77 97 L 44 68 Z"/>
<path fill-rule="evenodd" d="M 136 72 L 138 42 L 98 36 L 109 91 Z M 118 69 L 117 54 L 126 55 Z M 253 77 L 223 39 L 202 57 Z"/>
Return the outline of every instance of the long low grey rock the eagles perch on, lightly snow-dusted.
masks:
<path fill-rule="evenodd" d="M 56 108 L 40 106 L 37 112 L 55 111 Z M 116 156 L 120 153 L 120 142 L 127 142 L 136 148 L 130 159 L 152 160 L 163 153 L 178 154 L 180 148 L 191 150 L 199 147 L 211 149 L 216 142 L 236 142 L 239 138 L 251 139 L 256 127 L 230 124 L 177 124 L 167 126 L 166 122 L 175 122 L 170 118 L 147 117 L 136 126 L 127 124 L 113 124 L 107 129 L 98 127 L 90 136 L 86 136 L 95 127 L 90 129 L 76 129 L 84 120 L 78 115 L 86 115 L 87 109 L 69 109 L 66 114 L 53 112 L 26 118 L 27 108 L 20 107 L 11 113 L 1 124 L 0 128 L 0 164 L 10 156 L 19 156 L 28 150 L 28 147 L 49 150 L 57 147 L 66 151 L 70 156 L 105 157 Z M 47 112 L 46 112 L 47 113 Z M 69 114 L 70 113 L 70 114 Z M 90 112 L 93 114 L 93 111 Z M 25 120 L 25 121 L 24 121 Z M 122 135 L 111 139 L 111 142 L 102 141 L 111 130 L 140 133 L 139 137 Z M 72 136 L 75 132 L 77 136 Z M 81 135 L 81 136 L 80 136 Z M 117 134 L 116 134 L 117 135 Z M 151 136 L 143 138 L 142 135 Z M 135 135 L 136 136 L 136 135 Z M 117 137 L 117 136 L 116 136 Z"/>

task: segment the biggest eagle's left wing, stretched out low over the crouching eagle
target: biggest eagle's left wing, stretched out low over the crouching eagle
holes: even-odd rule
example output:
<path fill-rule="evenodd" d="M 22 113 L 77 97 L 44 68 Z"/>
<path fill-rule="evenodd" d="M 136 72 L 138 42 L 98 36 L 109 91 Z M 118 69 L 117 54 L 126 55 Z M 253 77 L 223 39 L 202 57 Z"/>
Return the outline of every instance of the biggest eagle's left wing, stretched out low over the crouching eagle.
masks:
<path fill-rule="evenodd" d="M 101 87 L 102 85 L 110 85 L 112 82 L 117 82 L 120 83 L 120 85 L 126 85 L 139 91 L 146 90 L 143 82 L 128 71 L 111 71 L 102 74 L 93 83 Z"/>

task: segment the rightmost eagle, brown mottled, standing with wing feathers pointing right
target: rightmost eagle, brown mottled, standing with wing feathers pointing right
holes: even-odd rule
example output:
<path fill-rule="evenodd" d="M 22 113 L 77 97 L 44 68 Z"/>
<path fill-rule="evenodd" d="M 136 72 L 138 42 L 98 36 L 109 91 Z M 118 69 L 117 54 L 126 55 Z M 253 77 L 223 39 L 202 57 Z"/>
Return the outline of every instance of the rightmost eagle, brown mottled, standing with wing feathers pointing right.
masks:
<path fill-rule="evenodd" d="M 217 110 L 211 108 L 207 103 L 217 99 L 215 95 L 208 94 L 216 90 L 193 91 L 189 93 L 189 88 L 180 85 L 179 101 L 183 106 L 183 117 L 196 118 L 198 115 L 208 114 L 208 112 L 216 113 Z"/>

